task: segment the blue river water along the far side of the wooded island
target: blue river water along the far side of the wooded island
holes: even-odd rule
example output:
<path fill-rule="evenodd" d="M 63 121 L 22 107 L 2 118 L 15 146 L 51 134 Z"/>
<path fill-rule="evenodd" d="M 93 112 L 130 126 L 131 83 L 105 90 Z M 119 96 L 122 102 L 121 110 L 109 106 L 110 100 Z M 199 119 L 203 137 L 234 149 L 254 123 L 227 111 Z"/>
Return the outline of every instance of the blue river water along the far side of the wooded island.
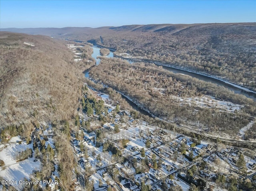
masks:
<path fill-rule="evenodd" d="M 93 48 L 92 57 L 96 60 L 96 65 L 98 65 L 100 63 L 100 59 L 97 59 L 97 57 L 100 56 L 100 47 L 94 45 L 92 48 Z M 110 53 L 108 54 L 108 57 L 114 57 L 113 51 L 110 51 Z M 128 61 L 130 63 L 132 63 L 132 61 L 130 61 L 130 60 L 128 60 Z M 230 85 L 230 84 L 228 84 L 224 81 L 221 81 L 219 79 L 214 79 L 212 77 L 202 75 L 202 74 L 198 74 L 198 73 L 194 73 L 192 71 L 185 71 L 183 69 L 176 69 L 176 68 L 167 67 L 167 66 L 162 66 L 162 67 L 163 67 L 163 69 L 166 69 L 166 70 L 171 71 L 173 73 L 180 73 L 180 74 L 183 74 L 183 75 L 189 75 L 189 76 L 197 78 L 199 80 L 203 80 L 203 81 L 206 81 L 206 82 L 211 82 L 211 83 L 223 86 L 223 87 L 233 91 L 236 94 L 241 94 L 241 95 L 244 95 L 248 98 L 252 98 L 252 99 L 256 100 L 256 93 L 245 91 L 245 90 L 243 90 L 239 87 L 234 87 L 234 85 Z M 90 69 L 85 71 L 85 77 L 86 78 L 89 77 L 89 70 Z"/>

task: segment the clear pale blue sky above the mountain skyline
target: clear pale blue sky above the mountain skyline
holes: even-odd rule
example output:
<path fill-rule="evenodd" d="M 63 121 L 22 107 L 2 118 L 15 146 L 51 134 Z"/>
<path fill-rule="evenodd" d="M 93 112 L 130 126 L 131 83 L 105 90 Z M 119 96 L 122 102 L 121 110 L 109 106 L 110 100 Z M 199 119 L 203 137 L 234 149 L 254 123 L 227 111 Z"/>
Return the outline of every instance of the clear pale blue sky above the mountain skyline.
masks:
<path fill-rule="evenodd" d="M 256 0 L 0 0 L 0 28 L 256 22 Z"/>

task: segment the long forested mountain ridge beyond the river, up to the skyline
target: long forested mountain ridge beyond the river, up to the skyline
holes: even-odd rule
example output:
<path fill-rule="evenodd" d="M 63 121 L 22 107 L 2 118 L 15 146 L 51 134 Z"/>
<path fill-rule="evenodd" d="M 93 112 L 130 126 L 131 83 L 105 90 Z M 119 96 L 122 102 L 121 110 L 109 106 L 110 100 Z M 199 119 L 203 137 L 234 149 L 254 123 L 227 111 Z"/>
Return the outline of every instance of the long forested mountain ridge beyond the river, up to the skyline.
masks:
<path fill-rule="evenodd" d="M 207 73 L 256 90 L 256 23 L 1 30 L 90 41 L 116 53 Z"/>

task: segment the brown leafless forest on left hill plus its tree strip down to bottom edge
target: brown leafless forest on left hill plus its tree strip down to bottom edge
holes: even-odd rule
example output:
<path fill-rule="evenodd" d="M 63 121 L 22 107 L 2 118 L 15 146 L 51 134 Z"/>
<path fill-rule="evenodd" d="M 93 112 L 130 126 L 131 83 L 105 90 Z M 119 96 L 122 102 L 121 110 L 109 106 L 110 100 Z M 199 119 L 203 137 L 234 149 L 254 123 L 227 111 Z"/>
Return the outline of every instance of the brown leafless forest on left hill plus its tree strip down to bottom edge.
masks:
<path fill-rule="evenodd" d="M 51 124 L 56 132 L 56 158 L 41 155 L 44 167 L 36 172 L 36 177 L 49 179 L 54 161 L 59 164 L 59 186 L 72 190 L 74 157 L 69 142 L 70 126 L 74 126 L 83 86 L 74 53 L 64 41 L 1 32 L 0 55 L 1 142 L 6 136 L 19 135 L 28 144 L 34 129 L 45 129 Z M 45 143 L 44 139 L 41 142 Z M 38 146 L 42 153 L 46 150 L 44 144 L 34 142 L 35 156 L 40 155 Z"/>

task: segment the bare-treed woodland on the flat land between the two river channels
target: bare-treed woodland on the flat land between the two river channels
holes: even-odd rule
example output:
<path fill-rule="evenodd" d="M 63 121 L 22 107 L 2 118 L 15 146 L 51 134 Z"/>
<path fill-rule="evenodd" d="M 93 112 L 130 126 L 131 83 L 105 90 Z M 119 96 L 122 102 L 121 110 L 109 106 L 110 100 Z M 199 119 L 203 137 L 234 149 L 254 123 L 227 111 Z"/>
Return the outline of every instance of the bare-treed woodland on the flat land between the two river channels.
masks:
<path fill-rule="evenodd" d="M 255 102 L 251 99 L 152 64 L 131 65 L 121 59 L 102 59 L 100 65 L 90 70 L 90 77 L 124 93 L 159 118 L 204 132 L 225 132 L 236 137 L 238 130 L 256 114 Z M 206 105 L 200 106 L 198 101 L 206 95 L 241 107 L 231 112 L 232 106 L 227 110 L 217 104 L 210 106 L 210 98 L 204 99 Z"/>

